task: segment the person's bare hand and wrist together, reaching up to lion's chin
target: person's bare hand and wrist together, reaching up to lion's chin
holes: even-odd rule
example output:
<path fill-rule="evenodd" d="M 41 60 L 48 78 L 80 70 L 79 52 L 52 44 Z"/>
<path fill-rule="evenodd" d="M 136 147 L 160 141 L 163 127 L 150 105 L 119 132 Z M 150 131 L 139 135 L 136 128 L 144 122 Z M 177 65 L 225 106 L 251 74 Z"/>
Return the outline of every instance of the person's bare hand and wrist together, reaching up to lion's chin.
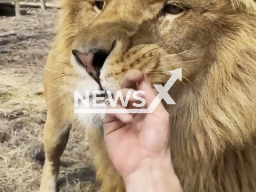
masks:
<path fill-rule="evenodd" d="M 123 96 L 128 88 L 144 91 L 146 108 L 157 96 L 141 72 L 128 73 L 121 88 Z M 129 102 L 132 106 L 132 98 Z M 108 108 L 124 109 L 120 103 Z M 170 116 L 162 103 L 152 114 L 106 114 L 106 148 L 127 192 L 182 192 L 171 163 L 169 135 Z"/>

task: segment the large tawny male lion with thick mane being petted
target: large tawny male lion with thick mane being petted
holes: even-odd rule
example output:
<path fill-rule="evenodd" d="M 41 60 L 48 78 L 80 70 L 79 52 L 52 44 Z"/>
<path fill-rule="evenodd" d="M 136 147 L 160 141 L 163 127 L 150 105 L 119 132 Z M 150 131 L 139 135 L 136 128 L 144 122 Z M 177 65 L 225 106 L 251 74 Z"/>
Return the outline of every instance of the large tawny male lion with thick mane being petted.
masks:
<path fill-rule="evenodd" d="M 40 192 L 56 192 L 75 124 L 86 130 L 102 192 L 124 192 L 104 146 L 104 114 L 74 114 L 74 91 L 114 94 L 129 70 L 164 85 L 178 68 L 182 81 L 168 92 L 176 105 L 163 103 L 184 192 L 256 191 L 255 0 L 62 0 L 61 6 L 44 76 Z"/>

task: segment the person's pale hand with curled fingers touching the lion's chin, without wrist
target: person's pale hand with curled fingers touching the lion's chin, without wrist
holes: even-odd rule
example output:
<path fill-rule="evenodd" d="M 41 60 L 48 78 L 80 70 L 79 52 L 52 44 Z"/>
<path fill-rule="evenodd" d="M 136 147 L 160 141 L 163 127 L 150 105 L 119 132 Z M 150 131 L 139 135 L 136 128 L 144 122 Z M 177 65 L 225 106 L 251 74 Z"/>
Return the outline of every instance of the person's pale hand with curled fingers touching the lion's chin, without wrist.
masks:
<path fill-rule="evenodd" d="M 144 108 L 152 103 L 157 92 L 140 71 L 130 71 L 121 84 L 121 92 L 126 99 L 127 92 L 142 90 L 146 100 Z M 131 97 L 128 106 L 134 108 Z M 123 109 L 120 100 L 116 107 Z M 143 107 L 142 107 L 143 108 Z M 106 114 L 104 139 L 106 148 L 116 170 L 126 180 L 132 173 L 141 170 L 145 165 L 169 169 L 173 172 L 168 139 L 170 135 L 169 114 L 160 102 L 152 114 Z"/>

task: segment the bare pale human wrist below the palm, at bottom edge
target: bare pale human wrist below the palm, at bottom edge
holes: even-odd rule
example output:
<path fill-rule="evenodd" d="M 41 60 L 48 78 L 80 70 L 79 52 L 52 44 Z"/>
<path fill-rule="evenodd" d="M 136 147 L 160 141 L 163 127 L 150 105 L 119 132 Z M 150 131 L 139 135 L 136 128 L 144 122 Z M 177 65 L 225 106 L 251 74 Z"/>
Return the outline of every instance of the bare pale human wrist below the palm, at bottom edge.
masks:
<path fill-rule="evenodd" d="M 182 192 L 170 156 L 145 160 L 124 182 L 127 192 Z"/>

